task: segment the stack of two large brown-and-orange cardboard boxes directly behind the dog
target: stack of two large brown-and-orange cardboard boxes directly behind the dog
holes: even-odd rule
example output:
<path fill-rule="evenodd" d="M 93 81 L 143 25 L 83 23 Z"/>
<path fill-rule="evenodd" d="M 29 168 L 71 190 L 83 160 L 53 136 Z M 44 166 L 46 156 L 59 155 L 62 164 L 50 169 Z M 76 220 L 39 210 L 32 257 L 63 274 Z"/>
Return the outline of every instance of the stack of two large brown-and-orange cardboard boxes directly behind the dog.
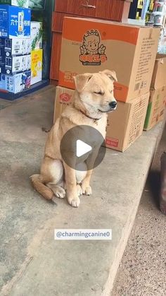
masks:
<path fill-rule="evenodd" d="M 106 146 L 124 151 L 141 136 L 160 30 L 87 18 L 64 18 L 54 122 L 72 102 L 73 76 L 113 69 L 117 109 L 108 115 Z"/>

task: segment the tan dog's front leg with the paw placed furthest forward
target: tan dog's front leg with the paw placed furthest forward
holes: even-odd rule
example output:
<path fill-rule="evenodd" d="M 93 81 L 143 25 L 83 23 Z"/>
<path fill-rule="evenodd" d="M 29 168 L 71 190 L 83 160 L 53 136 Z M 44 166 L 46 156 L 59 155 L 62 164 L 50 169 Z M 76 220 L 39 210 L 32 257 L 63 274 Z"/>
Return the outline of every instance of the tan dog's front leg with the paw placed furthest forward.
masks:
<path fill-rule="evenodd" d="M 75 170 L 66 165 L 65 162 L 63 162 L 63 167 L 65 170 L 65 187 L 67 190 L 68 203 L 70 203 L 71 206 L 77 208 L 79 206 L 80 199 L 77 194 Z"/>

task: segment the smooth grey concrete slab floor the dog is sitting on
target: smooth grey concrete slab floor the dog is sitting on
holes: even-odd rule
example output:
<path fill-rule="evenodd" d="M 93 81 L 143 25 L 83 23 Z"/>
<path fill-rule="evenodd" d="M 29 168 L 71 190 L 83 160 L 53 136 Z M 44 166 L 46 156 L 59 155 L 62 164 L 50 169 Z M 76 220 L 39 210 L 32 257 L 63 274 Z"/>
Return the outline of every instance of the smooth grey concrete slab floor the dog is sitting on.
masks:
<path fill-rule="evenodd" d="M 162 127 L 159 124 L 153 131 L 143 133 L 125 153 L 108 149 L 93 174 L 93 196 L 82 197 L 78 209 L 58 199 L 53 205 L 32 189 L 29 176 L 39 172 L 46 141 L 43 128 L 51 127 L 54 97 L 55 88 L 50 86 L 16 102 L 0 100 L 0 295 L 3 296 L 108 295 Z M 142 205 L 142 209 L 148 211 L 148 206 Z M 153 221 L 151 211 L 148 216 Z M 142 223 L 143 219 L 140 220 Z M 146 231 L 151 228 L 146 221 L 144 224 Z M 113 240 L 55 242 L 53 229 L 58 227 L 112 228 Z M 144 237 L 146 231 L 141 229 Z M 155 240 L 153 245 L 157 246 Z M 133 256 L 135 249 L 134 245 Z M 131 268 L 132 264 L 129 265 Z M 127 280 L 128 276 L 124 285 Z M 125 290 L 120 292 L 122 287 L 118 288 L 118 283 L 115 289 L 114 295 L 137 296 Z"/>

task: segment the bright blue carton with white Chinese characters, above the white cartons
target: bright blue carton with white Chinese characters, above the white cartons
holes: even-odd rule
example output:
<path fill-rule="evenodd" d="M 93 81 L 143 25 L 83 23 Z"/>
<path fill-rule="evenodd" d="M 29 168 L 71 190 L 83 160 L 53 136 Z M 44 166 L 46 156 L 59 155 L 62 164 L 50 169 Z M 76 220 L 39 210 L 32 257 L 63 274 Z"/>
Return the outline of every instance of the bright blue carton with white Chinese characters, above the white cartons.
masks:
<path fill-rule="evenodd" d="M 0 37 L 30 38 L 31 10 L 16 6 L 0 6 Z"/>

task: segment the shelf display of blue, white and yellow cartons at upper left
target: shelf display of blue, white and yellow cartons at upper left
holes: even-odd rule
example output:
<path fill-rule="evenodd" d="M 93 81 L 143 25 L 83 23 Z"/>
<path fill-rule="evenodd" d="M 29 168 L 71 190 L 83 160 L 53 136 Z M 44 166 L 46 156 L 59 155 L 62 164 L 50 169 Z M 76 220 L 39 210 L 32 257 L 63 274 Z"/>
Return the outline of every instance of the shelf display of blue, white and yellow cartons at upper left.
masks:
<path fill-rule="evenodd" d="M 49 84 L 53 4 L 0 0 L 0 98 L 15 100 Z"/>

